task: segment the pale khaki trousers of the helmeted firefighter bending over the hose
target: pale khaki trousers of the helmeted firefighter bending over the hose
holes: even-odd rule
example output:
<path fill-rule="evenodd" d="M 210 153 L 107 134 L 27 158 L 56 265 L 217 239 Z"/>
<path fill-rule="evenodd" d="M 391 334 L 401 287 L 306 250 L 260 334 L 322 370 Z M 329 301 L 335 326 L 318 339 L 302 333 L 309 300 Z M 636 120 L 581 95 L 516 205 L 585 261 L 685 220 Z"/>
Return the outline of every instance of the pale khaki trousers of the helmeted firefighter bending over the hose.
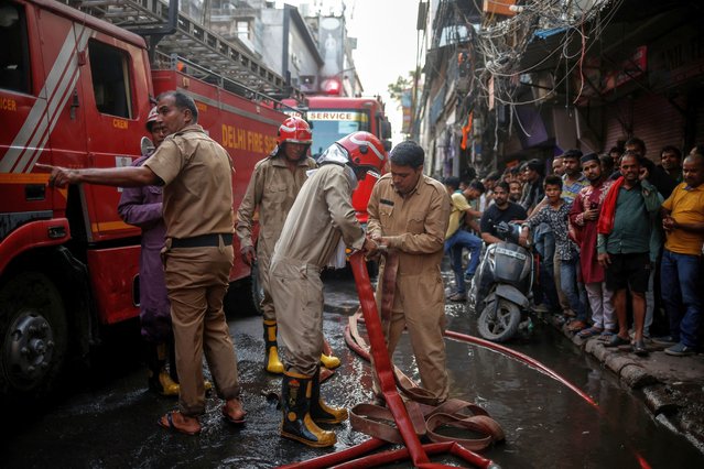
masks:
<path fill-rule="evenodd" d="M 286 371 L 313 375 L 323 352 L 323 282 L 315 265 L 273 259 L 269 275 Z"/>

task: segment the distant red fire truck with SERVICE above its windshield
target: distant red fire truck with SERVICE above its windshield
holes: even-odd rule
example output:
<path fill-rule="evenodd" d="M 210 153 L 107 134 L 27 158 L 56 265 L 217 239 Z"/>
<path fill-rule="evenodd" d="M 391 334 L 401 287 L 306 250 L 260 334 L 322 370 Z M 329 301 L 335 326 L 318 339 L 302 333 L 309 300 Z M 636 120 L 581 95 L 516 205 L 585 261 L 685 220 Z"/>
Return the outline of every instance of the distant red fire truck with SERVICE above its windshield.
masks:
<path fill-rule="evenodd" d="M 336 90 L 339 87 L 334 88 Z M 296 107 L 293 100 L 284 100 L 291 108 Z M 299 112 L 311 123 L 313 144 L 311 154 L 317 159 L 325 149 L 343 137 L 364 130 L 375 134 L 387 151 L 391 149 L 391 124 L 385 114 L 383 102 L 378 98 L 350 98 L 342 96 L 307 96 Z M 353 194 L 353 206 L 360 222 L 367 222 L 369 194 L 376 179 L 367 177 L 359 183 Z"/>

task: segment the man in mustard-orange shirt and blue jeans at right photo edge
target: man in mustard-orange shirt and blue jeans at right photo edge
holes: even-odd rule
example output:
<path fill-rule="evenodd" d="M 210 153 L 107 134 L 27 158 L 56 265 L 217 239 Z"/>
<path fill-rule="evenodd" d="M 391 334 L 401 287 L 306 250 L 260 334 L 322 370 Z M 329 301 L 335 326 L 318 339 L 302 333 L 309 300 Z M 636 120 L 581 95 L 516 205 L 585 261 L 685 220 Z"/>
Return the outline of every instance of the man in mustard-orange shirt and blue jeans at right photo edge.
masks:
<path fill-rule="evenodd" d="M 662 301 L 675 342 L 665 353 L 692 355 L 702 325 L 702 244 L 704 243 L 704 145 L 684 159 L 684 183 L 662 204 L 667 233 L 662 254 Z"/>

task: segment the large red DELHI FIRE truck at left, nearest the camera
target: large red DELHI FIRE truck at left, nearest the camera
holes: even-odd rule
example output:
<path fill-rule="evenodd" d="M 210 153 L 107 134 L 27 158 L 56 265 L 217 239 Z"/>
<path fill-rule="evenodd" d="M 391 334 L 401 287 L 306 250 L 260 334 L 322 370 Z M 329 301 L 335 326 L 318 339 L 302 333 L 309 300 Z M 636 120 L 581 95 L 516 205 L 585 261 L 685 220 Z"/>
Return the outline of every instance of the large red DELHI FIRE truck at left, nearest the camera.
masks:
<path fill-rule="evenodd" d="M 117 12 L 132 4 L 140 18 L 144 6 L 169 14 L 158 1 L 115 3 Z M 173 9 L 170 19 L 181 48 L 204 59 L 220 54 L 217 63 L 239 67 L 259 89 L 281 88 L 231 44 Z M 160 62 L 154 42 L 148 47 L 142 35 L 53 0 L 3 0 L 0 42 L 0 395 L 33 397 L 48 393 L 68 358 L 87 357 L 106 326 L 137 317 L 140 302 L 140 230 L 118 216 L 121 189 L 53 188 L 35 164 L 131 164 L 153 97 L 180 89 L 232 159 L 237 208 L 286 116 L 268 95 L 174 55 Z M 201 52 L 207 47 L 209 55 Z M 231 281 L 249 274 L 236 257 Z"/>

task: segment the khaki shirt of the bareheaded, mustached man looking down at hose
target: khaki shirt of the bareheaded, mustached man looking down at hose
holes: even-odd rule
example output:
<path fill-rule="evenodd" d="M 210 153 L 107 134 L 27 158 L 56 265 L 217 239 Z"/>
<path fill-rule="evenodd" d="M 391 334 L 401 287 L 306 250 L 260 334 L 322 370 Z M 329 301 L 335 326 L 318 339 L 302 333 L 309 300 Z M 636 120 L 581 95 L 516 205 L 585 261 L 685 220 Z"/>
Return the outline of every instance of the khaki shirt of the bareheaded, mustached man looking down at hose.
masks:
<path fill-rule="evenodd" d="M 385 174 L 375 185 L 367 211 L 367 229 L 389 238 L 389 248 L 399 250 L 399 274 L 437 270 L 443 259 L 445 231 L 450 220 L 450 196 L 445 186 L 421 175 L 415 188 L 402 197 Z"/>

